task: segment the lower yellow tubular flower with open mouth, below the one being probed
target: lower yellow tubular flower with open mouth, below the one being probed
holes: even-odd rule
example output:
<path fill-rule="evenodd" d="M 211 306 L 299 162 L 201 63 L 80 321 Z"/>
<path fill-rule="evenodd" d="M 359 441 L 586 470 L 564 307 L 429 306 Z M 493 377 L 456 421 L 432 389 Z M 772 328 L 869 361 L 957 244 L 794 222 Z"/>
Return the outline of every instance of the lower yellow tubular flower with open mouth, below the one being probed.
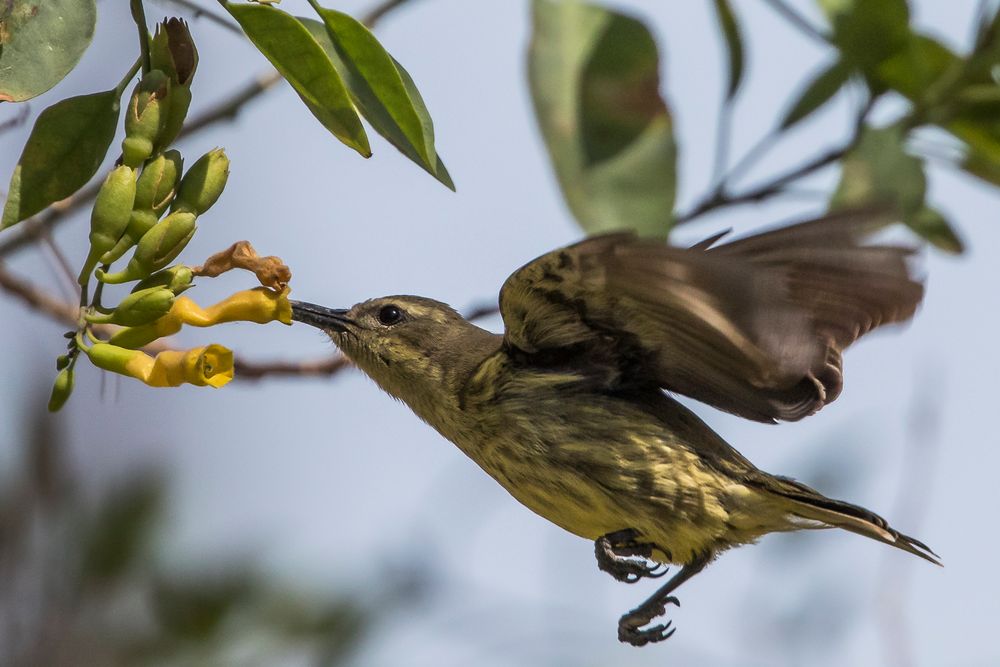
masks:
<path fill-rule="evenodd" d="M 150 387 L 221 387 L 233 379 L 233 353 L 221 345 L 167 350 L 155 358 L 109 343 L 95 343 L 85 351 L 98 368 L 134 377 Z"/>

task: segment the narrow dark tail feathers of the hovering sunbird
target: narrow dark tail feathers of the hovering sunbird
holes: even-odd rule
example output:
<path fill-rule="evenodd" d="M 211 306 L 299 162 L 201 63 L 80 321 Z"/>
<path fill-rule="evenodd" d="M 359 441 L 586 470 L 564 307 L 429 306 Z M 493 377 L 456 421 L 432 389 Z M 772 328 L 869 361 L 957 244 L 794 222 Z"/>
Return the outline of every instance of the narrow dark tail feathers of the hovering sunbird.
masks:
<path fill-rule="evenodd" d="M 863 507 L 827 498 L 805 484 L 779 477 L 777 484 L 769 485 L 770 490 L 792 501 L 791 512 L 796 517 L 808 521 L 818 521 L 822 526 L 849 530 L 858 535 L 870 537 L 885 544 L 920 556 L 935 565 L 941 565 L 938 555 L 930 547 L 909 535 L 904 535 L 889 526 L 889 523 Z"/>

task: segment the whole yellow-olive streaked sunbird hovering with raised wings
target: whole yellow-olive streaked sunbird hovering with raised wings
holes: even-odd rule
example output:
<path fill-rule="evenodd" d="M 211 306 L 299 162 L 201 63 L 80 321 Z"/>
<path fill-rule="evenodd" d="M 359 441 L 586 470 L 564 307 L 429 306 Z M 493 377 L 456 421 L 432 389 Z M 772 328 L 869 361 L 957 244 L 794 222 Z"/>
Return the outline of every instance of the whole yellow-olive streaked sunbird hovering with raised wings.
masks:
<path fill-rule="evenodd" d="M 592 540 L 615 579 L 680 565 L 618 622 L 619 640 L 642 646 L 673 634 L 652 622 L 678 586 L 767 533 L 843 528 L 941 564 L 877 514 L 758 469 L 671 397 L 766 423 L 836 399 L 843 350 L 923 297 L 914 248 L 872 238 L 892 222 L 834 213 L 690 248 L 587 238 L 507 278 L 503 335 L 419 296 L 292 302 L 293 319 L 528 509 Z"/>

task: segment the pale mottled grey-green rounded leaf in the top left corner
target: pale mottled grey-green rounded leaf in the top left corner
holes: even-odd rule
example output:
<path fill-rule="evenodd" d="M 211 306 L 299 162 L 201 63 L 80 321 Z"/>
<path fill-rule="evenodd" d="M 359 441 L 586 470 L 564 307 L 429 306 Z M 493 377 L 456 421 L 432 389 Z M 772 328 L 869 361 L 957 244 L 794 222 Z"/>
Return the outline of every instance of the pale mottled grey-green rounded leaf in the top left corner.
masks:
<path fill-rule="evenodd" d="M 0 3 L 0 102 L 52 88 L 80 62 L 94 37 L 95 0 Z"/>

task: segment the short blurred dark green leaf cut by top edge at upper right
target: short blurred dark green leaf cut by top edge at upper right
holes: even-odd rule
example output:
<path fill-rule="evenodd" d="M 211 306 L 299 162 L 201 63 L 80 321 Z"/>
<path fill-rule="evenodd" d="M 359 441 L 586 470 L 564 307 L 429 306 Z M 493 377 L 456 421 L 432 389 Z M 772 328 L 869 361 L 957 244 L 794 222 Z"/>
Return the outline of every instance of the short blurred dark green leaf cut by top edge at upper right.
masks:
<path fill-rule="evenodd" d="M 906 0 L 819 0 L 833 27 L 833 42 L 846 62 L 866 74 L 906 46 Z"/>

